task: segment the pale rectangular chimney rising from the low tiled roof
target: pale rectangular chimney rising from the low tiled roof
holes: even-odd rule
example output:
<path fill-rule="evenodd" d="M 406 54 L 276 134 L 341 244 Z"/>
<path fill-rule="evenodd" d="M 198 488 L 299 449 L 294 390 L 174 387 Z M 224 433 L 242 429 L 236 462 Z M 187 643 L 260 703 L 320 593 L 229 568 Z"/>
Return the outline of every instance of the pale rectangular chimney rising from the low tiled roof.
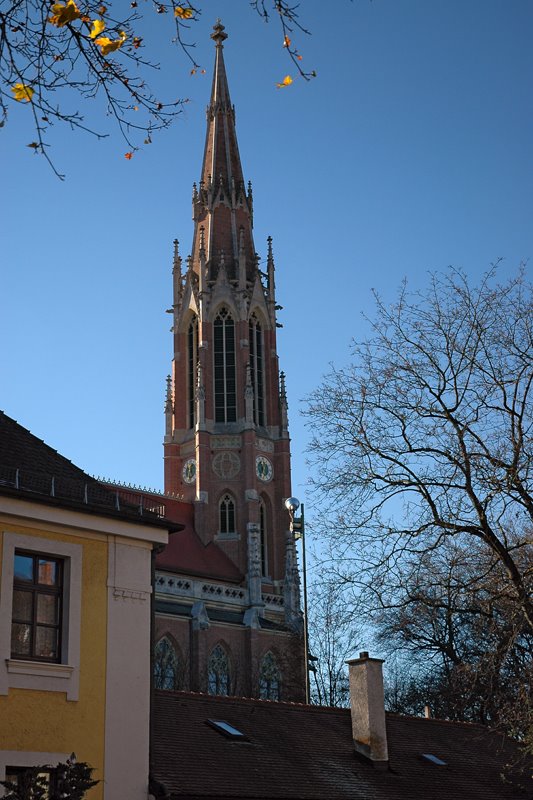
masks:
<path fill-rule="evenodd" d="M 385 727 L 385 698 L 380 658 L 359 653 L 359 658 L 346 662 L 350 675 L 350 710 L 355 749 L 375 766 L 386 766 L 389 760 Z"/>

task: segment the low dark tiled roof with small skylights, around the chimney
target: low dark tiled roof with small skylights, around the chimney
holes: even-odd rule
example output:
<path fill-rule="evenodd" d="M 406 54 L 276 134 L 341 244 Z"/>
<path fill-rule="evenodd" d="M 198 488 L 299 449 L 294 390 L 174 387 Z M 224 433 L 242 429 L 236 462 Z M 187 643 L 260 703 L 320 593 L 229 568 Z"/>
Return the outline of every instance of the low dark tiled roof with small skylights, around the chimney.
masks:
<path fill-rule="evenodd" d="M 388 715 L 389 767 L 356 755 L 350 711 L 156 692 L 154 787 L 172 800 L 531 800 L 501 775 L 514 743 L 478 725 Z M 206 724 L 229 722 L 248 741 Z M 431 753 L 446 766 L 422 757 Z"/>

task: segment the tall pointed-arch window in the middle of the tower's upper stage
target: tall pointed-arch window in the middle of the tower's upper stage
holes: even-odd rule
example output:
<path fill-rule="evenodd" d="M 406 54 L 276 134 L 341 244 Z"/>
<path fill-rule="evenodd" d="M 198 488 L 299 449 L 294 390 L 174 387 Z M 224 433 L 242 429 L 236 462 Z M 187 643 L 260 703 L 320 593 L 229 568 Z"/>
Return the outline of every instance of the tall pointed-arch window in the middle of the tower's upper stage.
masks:
<path fill-rule="evenodd" d="M 215 359 L 215 422 L 237 419 L 235 379 L 235 322 L 227 308 L 221 308 L 213 326 Z"/>

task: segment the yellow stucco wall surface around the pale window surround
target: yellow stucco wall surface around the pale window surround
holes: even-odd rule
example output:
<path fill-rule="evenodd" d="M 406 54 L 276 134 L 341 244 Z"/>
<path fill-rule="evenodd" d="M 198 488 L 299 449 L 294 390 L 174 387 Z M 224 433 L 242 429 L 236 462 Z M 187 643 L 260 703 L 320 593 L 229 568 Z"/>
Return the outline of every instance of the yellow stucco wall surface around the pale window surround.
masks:
<path fill-rule="evenodd" d="M 75 752 L 78 761 L 87 761 L 95 768 L 94 778 L 101 780 L 104 767 L 108 543 L 100 534 L 91 538 L 90 534 L 85 537 L 79 531 L 73 535 L 48 532 L 37 527 L 4 523 L 0 516 L 0 552 L 4 530 L 42 537 L 43 540 L 79 544 L 83 547 L 83 555 L 79 700 L 67 701 L 63 692 L 11 688 L 7 696 L 0 696 L 0 750 Z M 43 550 L 46 549 L 43 545 Z M 88 795 L 91 800 L 102 797 L 103 784 Z"/>

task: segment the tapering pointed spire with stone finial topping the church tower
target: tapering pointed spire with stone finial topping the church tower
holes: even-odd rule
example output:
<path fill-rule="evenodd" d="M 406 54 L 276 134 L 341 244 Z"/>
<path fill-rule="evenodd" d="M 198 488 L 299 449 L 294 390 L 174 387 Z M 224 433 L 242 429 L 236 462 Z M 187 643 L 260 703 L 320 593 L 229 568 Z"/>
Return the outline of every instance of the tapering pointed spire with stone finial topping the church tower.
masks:
<path fill-rule="evenodd" d="M 200 274 L 200 229 L 205 229 L 207 280 L 217 278 L 220 253 L 230 280 L 255 279 L 251 196 L 246 192 L 237 134 L 235 109 L 231 103 L 224 45 L 227 33 L 217 21 L 211 38 L 215 42 L 215 67 L 211 98 L 207 107 L 207 132 L 199 188 L 193 193 L 193 270 Z M 239 258 L 240 257 L 240 258 Z M 239 270 L 240 263 L 240 270 Z"/>

